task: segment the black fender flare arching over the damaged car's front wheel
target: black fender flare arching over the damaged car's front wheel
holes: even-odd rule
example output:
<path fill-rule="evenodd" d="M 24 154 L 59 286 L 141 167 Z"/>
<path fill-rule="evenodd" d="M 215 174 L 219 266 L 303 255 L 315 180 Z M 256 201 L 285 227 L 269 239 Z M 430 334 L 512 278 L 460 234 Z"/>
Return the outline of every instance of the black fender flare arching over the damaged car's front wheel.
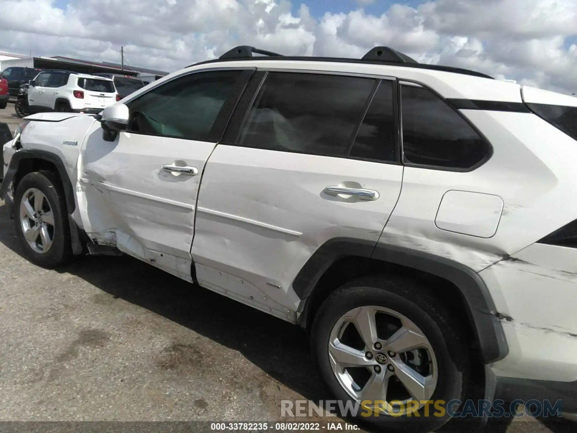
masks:
<path fill-rule="evenodd" d="M 64 166 L 62 159 L 60 159 L 58 155 L 55 155 L 52 152 L 38 149 L 21 149 L 14 152 L 12 159 L 10 159 L 8 171 L 6 171 L 6 177 L 2 182 L 2 186 L 0 186 L 0 197 L 3 198 L 6 196 L 6 192 L 8 192 L 8 185 L 12 183 L 14 176 L 16 176 L 18 168 L 20 167 L 20 163 L 27 159 L 42 159 L 54 164 L 58 170 L 58 175 L 62 180 L 64 196 L 66 200 L 66 209 L 68 210 L 68 213 L 72 215 L 74 210 L 76 210 L 76 201 L 74 201 L 74 188 L 72 187 L 72 182 L 70 182 L 68 171 L 66 171 L 66 167 Z"/>

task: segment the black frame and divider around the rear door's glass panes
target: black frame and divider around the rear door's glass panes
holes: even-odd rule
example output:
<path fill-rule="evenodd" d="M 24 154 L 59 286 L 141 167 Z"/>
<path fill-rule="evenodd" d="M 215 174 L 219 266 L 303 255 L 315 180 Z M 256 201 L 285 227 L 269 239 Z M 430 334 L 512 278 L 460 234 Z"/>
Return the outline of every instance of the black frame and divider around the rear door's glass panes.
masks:
<path fill-rule="evenodd" d="M 228 69 L 228 68 L 227 68 Z M 248 115 L 250 113 L 250 109 L 254 104 L 254 100 L 260 92 L 262 85 L 264 84 L 265 80 L 267 79 L 269 72 L 282 72 L 282 73 L 304 73 L 304 74 L 315 74 L 315 75 L 337 75 L 341 77 L 354 77 L 354 78 L 369 78 L 375 80 L 375 85 L 370 92 L 368 103 L 363 107 L 362 117 L 359 117 L 359 124 L 357 125 L 357 129 L 355 130 L 355 134 L 352 137 L 351 145 L 349 146 L 349 153 L 352 149 L 352 144 L 354 144 L 354 139 L 357 137 L 358 129 L 361 127 L 362 122 L 365 119 L 365 115 L 370 107 L 370 102 L 372 102 L 374 94 L 376 93 L 377 89 L 379 88 L 377 84 L 380 85 L 381 81 L 389 80 L 393 82 L 393 113 L 394 113 L 394 122 L 395 122 L 395 161 L 385 161 L 380 159 L 371 159 L 371 158 L 362 158 L 359 156 L 350 156 L 350 155 L 335 155 L 335 154 L 312 154 L 310 152 L 301 152 L 301 151 L 293 151 L 293 150 L 272 150 L 272 149 L 264 149 L 269 150 L 271 152 L 286 152 L 290 154 L 301 154 L 301 155 L 312 155 L 312 156 L 324 156 L 328 158 L 342 158 L 342 159 L 353 159 L 359 161 L 366 161 L 366 162 L 374 162 L 379 164 L 388 164 L 388 165 L 403 165 L 400 161 L 400 155 L 402 152 L 400 150 L 400 135 L 399 135 L 399 107 L 398 107 L 398 78 L 388 75 L 380 75 L 380 74 L 366 74 L 366 73 L 357 73 L 357 72 L 342 72 L 342 71 L 334 71 L 334 70 L 316 70 L 316 69 L 291 69 L 291 68 L 269 68 L 269 67 L 261 67 L 256 68 L 256 73 L 250 80 L 249 84 L 247 85 L 245 91 L 250 92 L 249 94 L 243 94 L 239 103 L 237 104 L 237 108 L 235 109 L 230 122 L 227 125 L 227 129 L 224 132 L 222 143 L 224 145 L 231 145 L 236 147 L 244 147 L 247 149 L 253 149 L 253 147 L 245 146 L 238 143 L 238 140 L 241 135 L 241 131 L 243 126 L 245 125 L 246 120 L 248 119 Z M 260 78 L 260 81 L 256 83 L 255 81 Z M 252 85 L 251 85 L 252 84 Z M 258 84 L 258 85 L 256 85 Z M 397 85 L 395 85 L 397 84 Z"/>

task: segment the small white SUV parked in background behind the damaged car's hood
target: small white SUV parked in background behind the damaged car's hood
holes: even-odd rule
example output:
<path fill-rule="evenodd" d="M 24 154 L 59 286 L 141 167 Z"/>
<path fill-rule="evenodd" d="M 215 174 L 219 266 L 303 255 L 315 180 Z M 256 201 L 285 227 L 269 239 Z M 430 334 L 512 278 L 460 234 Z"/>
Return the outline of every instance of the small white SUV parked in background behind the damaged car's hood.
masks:
<path fill-rule="evenodd" d="M 44 70 L 28 88 L 32 113 L 100 113 L 118 100 L 113 80 L 66 70 Z"/>

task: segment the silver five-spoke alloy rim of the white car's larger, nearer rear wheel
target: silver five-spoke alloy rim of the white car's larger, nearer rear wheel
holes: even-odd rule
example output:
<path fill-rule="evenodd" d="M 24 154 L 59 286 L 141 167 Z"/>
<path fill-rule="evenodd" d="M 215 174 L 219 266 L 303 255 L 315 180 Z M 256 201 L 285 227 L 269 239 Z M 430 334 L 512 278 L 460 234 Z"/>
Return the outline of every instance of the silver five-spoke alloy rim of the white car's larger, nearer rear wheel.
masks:
<path fill-rule="evenodd" d="M 358 307 L 331 330 L 329 361 L 340 386 L 357 402 L 384 401 L 377 408 L 398 413 L 409 400 L 430 400 L 437 386 L 437 360 L 425 334 L 402 314 L 384 307 Z M 395 404 L 391 406 L 391 402 Z M 404 412 L 406 413 L 406 412 Z"/>

